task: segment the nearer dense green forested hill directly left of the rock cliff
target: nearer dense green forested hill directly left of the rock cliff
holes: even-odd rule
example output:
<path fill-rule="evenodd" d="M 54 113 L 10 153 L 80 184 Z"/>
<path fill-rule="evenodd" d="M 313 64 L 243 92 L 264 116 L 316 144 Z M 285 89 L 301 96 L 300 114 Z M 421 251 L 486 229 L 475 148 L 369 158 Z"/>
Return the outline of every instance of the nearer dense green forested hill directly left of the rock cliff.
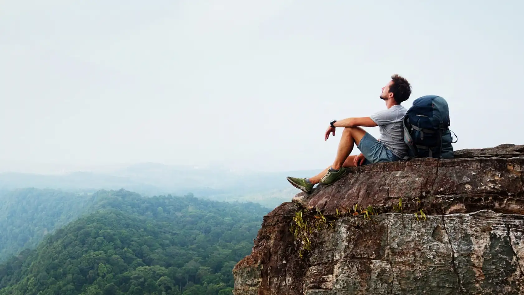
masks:
<path fill-rule="evenodd" d="M 233 266 L 250 253 L 269 211 L 124 190 L 83 198 L 91 203 L 69 207 L 78 219 L 0 265 L 0 295 L 231 294 Z M 41 227 L 67 220 L 53 212 L 34 219 Z"/>

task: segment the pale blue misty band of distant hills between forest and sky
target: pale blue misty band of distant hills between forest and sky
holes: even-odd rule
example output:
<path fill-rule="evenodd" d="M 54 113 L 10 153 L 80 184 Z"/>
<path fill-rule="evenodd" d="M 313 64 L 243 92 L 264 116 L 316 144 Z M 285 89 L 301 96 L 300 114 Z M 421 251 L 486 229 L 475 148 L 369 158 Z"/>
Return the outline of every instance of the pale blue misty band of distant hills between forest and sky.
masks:
<path fill-rule="evenodd" d="M 95 192 L 124 188 L 145 196 L 192 193 L 213 200 L 253 200 L 267 207 L 276 207 L 298 192 L 286 181 L 286 176 L 307 177 L 319 171 L 250 172 L 141 163 L 111 173 L 40 175 L 5 172 L 0 173 L 0 190 L 36 187 Z"/>

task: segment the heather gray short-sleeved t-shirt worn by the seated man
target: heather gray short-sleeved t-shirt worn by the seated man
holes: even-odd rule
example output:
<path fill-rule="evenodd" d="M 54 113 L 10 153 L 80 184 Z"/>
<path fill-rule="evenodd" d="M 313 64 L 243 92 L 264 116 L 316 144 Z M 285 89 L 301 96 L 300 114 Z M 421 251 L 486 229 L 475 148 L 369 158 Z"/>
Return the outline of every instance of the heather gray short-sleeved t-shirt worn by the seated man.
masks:
<path fill-rule="evenodd" d="M 380 141 L 399 158 L 408 154 L 408 145 L 404 142 L 404 128 L 402 126 L 402 119 L 406 112 L 406 108 L 402 105 L 394 105 L 370 116 L 380 129 Z"/>

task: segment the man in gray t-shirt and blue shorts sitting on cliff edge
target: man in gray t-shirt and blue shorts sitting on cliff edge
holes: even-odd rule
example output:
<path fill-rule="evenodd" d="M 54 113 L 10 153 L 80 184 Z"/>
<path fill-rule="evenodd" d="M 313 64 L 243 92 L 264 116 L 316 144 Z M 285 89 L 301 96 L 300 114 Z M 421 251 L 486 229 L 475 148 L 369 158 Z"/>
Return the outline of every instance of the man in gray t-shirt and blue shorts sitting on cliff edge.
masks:
<path fill-rule="evenodd" d="M 406 108 L 400 103 L 408 100 L 411 95 L 411 85 L 399 76 L 391 76 L 391 80 L 382 88 L 380 99 L 386 102 L 386 110 L 378 111 L 369 117 L 347 118 L 330 122 L 325 133 L 328 140 L 330 134 L 335 136 L 335 128 L 343 127 L 339 150 L 333 164 L 312 178 L 293 178 L 287 180 L 300 190 L 311 193 L 313 186 L 319 184 L 328 186 L 339 180 L 347 172 L 347 167 L 357 167 L 362 164 L 381 163 L 401 160 L 407 155 L 408 146 L 404 142 L 402 119 Z M 380 139 L 377 140 L 362 127 L 379 127 Z M 353 145 L 361 151 L 358 156 L 350 156 Z"/>

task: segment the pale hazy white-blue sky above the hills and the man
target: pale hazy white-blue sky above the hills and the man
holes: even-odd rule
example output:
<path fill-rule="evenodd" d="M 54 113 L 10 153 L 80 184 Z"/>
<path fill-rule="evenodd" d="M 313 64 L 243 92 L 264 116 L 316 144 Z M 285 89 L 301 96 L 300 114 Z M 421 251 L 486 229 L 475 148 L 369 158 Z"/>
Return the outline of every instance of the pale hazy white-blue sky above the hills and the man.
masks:
<path fill-rule="evenodd" d="M 1 1 L 0 163 L 324 168 L 395 73 L 455 149 L 524 144 L 524 4 L 495 3 Z"/>

